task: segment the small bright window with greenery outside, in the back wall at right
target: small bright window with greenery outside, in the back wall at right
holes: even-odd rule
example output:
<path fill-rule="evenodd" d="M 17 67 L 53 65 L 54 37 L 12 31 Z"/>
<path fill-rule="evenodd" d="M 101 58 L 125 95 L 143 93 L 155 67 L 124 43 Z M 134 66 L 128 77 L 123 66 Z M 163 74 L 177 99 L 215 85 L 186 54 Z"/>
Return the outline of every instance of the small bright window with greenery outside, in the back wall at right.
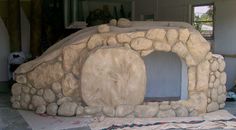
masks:
<path fill-rule="evenodd" d="M 214 37 L 214 5 L 197 5 L 192 8 L 192 25 L 208 39 Z"/>

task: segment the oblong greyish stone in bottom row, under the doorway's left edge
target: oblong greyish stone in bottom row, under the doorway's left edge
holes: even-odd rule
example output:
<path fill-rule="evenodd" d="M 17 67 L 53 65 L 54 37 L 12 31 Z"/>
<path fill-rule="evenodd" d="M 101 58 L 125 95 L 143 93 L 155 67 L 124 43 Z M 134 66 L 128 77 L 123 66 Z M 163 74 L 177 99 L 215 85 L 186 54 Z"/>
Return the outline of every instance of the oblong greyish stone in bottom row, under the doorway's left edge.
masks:
<path fill-rule="evenodd" d="M 158 112 L 158 107 L 155 105 L 137 105 L 134 109 L 135 117 L 154 117 Z"/>

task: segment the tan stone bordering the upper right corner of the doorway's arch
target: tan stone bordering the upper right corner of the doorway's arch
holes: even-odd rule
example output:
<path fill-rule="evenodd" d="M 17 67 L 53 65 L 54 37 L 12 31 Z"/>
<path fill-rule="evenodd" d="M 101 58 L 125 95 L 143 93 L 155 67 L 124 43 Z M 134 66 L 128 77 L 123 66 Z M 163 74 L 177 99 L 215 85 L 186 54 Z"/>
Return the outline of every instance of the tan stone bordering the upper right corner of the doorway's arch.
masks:
<path fill-rule="evenodd" d="M 188 55 L 188 49 L 183 45 L 182 42 L 177 42 L 173 46 L 172 51 L 178 54 L 178 56 L 181 58 L 185 58 Z"/>

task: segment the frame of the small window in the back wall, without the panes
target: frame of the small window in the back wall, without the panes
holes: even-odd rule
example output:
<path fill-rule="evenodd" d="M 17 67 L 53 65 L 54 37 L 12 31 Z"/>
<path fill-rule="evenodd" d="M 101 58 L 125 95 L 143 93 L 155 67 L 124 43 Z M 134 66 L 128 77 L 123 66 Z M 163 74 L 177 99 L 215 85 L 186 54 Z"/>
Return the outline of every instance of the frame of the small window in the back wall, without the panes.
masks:
<path fill-rule="evenodd" d="M 212 21 L 194 21 L 194 8 L 195 7 L 200 7 L 200 6 L 213 6 L 213 15 L 212 15 Z M 211 37 L 206 37 L 204 35 L 202 35 L 204 38 L 206 38 L 207 40 L 214 40 L 215 38 L 215 4 L 214 3 L 206 3 L 206 4 L 194 4 L 191 6 L 191 25 L 193 25 L 194 22 L 200 22 L 200 23 L 204 23 L 204 22 L 212 22 L 212 36 Z M 200 32 L 201 33 L 201 32 Z"/>

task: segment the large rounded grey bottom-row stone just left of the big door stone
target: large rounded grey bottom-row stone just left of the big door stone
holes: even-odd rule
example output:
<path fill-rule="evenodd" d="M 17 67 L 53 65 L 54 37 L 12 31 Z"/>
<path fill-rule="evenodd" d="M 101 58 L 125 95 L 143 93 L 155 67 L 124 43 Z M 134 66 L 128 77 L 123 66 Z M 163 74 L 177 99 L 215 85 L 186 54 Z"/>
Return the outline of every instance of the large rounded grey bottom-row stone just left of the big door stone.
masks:
<path fill-rule="evenodd" d="M 64 102 L 58 109 L 58 115 L 60 116 L 74 116 L 77 104 L 74 102 Z"/>

